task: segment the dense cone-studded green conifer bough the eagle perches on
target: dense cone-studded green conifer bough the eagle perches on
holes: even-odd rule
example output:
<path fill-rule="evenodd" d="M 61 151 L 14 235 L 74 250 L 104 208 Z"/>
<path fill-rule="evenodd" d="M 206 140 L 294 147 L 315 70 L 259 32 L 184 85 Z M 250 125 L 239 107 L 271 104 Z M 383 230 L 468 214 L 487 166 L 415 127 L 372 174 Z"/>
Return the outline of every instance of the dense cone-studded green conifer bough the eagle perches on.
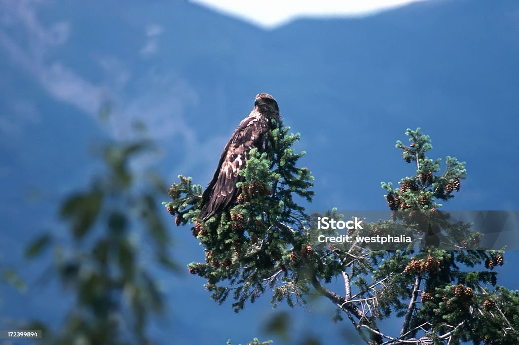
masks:
<path fill-rule="evenodd" d="M 206 251 L 206 262 L 190 264 L 189 272 L 208 279 L 207 290 L 218 303 L 231 294 L 235 311 L 268 289 L 275 291 L 275 304 L 286 300 L 291 306 L 308 292 L 308 281 L 299 274 L 310 269 L 302 264 L 311 255 L 305 249 L 308 215 L 294 197 L 311 201 L 313 178 L 308 169 L 297 167 L 304 152 L 294 153 L 299 135 L 289 131 L 282 125 L 272 131 L 272 161 L 252 150 L 240 171 L 245 181 L 238 185 L 238 204 L 229 210 L 198 222 L 201 187 L 182 176 L 170 189 L 172 202 L 165 203 L 177 224 L 194 222 L 193 235 Z"/>

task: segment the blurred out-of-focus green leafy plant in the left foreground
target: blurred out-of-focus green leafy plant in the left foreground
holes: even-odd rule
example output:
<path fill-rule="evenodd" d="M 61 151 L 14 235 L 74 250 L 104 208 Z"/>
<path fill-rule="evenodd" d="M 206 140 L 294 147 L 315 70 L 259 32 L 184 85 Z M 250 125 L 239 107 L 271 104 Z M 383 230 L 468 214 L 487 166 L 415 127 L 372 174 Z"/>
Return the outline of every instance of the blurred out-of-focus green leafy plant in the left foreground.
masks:
<path fill-rule="evenodd" d="M 35 259 L 52 247 L 53 270 L 75 299 L 62 328 L 46 332 L 46 342 L 152 342 L 146 325 L 152 314 L 165 312 L 165 301 L 149 263 L 169 270 L 177 267 L 155 201 L 165 188 L 148 172 L 136 183 L 129 167 L 135 156 L 151 150 L 147 141 L 108 144 L 103 149 L 106 171 L 61 205 L 70 237 L 44 233 L 26 248 L 26 257 Z"/>

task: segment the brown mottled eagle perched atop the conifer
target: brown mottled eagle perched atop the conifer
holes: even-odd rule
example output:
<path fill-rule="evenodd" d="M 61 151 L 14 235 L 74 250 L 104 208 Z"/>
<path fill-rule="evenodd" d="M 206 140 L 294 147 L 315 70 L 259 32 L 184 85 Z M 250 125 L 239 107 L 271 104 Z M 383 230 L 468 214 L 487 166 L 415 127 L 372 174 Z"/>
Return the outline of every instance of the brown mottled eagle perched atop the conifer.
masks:
<path fill-rule="evenodd" d="M 272 123 L 272 119 L 275 123 Z M 254 109 L 230 137 L 213 179 L 202 194 L 198 219 L 208 220 L 236 202 L 240 193 L 236 183 L 243 181 L 238 171 L 245 168 L 252 149 L 256 148 L 260 153 L 269 151 L 272 144 L 269 131 L 276 128 L 278 122 L 279 107 L 276 99 L 266 93 L 256 95 Z"/>

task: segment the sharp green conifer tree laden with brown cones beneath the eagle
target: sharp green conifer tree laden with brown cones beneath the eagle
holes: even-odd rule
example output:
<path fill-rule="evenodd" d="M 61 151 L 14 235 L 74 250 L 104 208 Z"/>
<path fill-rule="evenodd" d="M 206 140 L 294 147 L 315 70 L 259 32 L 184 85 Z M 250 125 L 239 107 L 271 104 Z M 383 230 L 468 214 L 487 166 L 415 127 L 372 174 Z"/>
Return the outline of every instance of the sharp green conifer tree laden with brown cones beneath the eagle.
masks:
<path fill-rule="evenodd" d="M 470 231 L 470 224 L 458 224 L 457 236 L 449 234 L 453 224 L 440 210 L 440 202 L 461 190 L 464 162 L 447 156 L 441 171 L 441 160 L 426 155 L 432 149 L 429 137 L 419 128 L 407 130 L 409 145 L 397 141 L 397 148 L 406 163 L 415 165 L 413 175 L 403 178 L 399 188 L 382 183 L 394 218 L 364 226 L 371 234 L 392 233 L 401 229 L 403 219 L 426 218 L 429 227 L 409 226 L 408 233 L 416 238 L 434 227 L 435 235 L 450 235 L 456 250 L 427 242 L 420 250 L 375 250 L 355 242 L 318 248 L 310 241 L 315 230 L 311 216 L 298 204 L 311 202 L 313 178 L 307 168 L 298 167 L 304 152 L 294 153 L 299 135 L 289 132 L 282 124 L 272 131 L 271 161 L 251 152 L 240 171 L 244 182 L 238 203 L 206 222 L 197 220 L 200 185 L 179 176 L 169 190 L 167 210 L 176 225 L 192 224 L 206 253 L 206 262 L 191 263 L 188 270 L 207 279 L 212 299 L 224 303 L 230 296 L 238 312 L 267 291 L 274 306 L 286 301 L 291 307 L 318 293 L 337 307 L 334 319 L 347 318 L 368 344 L 519 341 L 519 294 L 496 285 L 493 271 L 503 264 L 503 251 L 470 249 L 477 247 L 480 235 Z M 340 217 L 335 210 L 328 215 Z M 336 277 L 344 281 L 344 295 L 330 287 Z M 399 332 L 379 329 L 377 322 L 389 317 L 401 320 Z"/>

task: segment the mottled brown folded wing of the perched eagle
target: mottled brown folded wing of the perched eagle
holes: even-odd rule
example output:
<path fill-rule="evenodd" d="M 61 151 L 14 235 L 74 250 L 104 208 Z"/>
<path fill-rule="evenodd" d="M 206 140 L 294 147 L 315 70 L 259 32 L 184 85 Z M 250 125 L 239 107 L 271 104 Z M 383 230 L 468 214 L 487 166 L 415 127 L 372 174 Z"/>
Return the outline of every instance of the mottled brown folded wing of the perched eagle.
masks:
<path fill-rule="evenodd" d="M 253 148 L 260 152 L 267 150 L 268 131 L 267 122 L 253 116 L 245 118 L 236 128 L 220 156 L 213 179 L 202 194 L 199 219 L 207 220 L 236 202 L 240 192 L 236 183 L 243 181 L 238 171 L 245 168 Z"/>

